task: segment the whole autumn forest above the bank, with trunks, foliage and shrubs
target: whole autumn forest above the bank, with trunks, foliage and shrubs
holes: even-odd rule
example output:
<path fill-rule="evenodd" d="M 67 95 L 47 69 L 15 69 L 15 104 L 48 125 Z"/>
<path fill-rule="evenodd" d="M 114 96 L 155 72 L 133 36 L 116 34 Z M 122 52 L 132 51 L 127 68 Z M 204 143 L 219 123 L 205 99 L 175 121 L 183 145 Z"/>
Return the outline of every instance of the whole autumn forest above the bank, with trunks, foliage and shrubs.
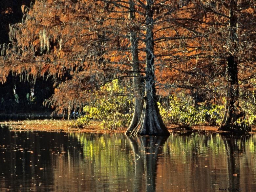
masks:
<path fill-rule="evenodd" d="M 0 16 L 2 114 L 128 135 L 255 126 L 254 0 L 1 0 Z"/>

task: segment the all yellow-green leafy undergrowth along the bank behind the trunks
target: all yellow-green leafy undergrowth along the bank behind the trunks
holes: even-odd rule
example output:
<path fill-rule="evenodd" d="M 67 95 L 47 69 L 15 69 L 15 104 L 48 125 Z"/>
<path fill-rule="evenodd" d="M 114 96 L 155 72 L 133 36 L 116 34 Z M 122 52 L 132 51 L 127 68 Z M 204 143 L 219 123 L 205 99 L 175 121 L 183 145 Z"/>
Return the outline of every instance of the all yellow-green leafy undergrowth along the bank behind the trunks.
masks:
<path fill-rule="evenodd" d="M 118 80 L 101 87 L 115 97 L 97 96 L 96 102 L 88 103 L 83 108 L 83 115 L 71 121 L 70 127 L 83 128 L 92 121 L 100 121 L 101 129 L 116 130 L 120 127 L 128 127 L 133 116 L 133 97 L 127 94 L 127 90 Z M 252 97 L 253 98 L 253 97 Z M 193 126 L 220 126 L 224 118 L 225 97 L 218 102 L 196 103 L 196 99 L 187 93 L 180 92 L 167 96 L 158 102 L 160 115 L 166 125 L 179 125 L 182 128 Z M 254 99 L 242 100 L 241 105 L 248 118 L 245 123 L 256 125 L 256 105 Z M 241 119 L 237 123 L 242 123 Z"/>

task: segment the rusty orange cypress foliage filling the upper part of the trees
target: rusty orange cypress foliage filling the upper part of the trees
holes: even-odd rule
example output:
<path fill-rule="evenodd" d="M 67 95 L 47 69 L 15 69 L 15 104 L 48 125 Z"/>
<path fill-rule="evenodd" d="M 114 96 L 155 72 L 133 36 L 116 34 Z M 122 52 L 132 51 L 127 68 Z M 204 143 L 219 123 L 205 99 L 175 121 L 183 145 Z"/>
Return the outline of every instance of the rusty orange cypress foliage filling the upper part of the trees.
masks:
<path fill-rule="evenodd" d="M 160 94 L 167 95 L 180 87 L 222 89 L 229 29 L 225 16 L 227 5 L 221 2 L 154 1 L 155 73 Z M 82 106 L 90 97 L 88 90 L 97 89 L 118 76 L 132 74 L 130 31 L 137 32 L 143 72 L 146 50 L 142 4 L 146 1 L 134 3 L 134 20 L 129 19 L 129 0 L 76 3 L 36 0 L 31 9 L 23 6 L 23 23 L 10 28 L 15 46 L 7 50 L 7 57 L 0 61 L 0 80 L 5 81 L 10 71 L 17 74 L 25 71 L 34 76 L 71 76 L 57 84 L 53 102 L 60 112 L 68 106 Z M 251 56 L 255 53 L 253 22 L 255 24 L 256 19 L 253 6 L 241 4 L 242 8 L 239 11 L 241 49 L 238 54 L 242 72 L 239 77 L 246 79 L 256 73 L 255 59 Z M 252 23 L 247 24 L 245 19 Z M 96 84 L 92 86 L 93 83 Z"/>

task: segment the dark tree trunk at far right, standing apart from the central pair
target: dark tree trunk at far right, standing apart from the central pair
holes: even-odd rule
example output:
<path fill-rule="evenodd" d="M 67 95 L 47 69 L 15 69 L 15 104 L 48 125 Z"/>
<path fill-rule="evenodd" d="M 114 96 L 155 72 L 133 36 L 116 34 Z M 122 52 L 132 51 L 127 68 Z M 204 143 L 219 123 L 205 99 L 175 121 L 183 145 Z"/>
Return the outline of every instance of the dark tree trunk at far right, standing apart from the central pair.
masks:
<path fill-rule="evenodd" d="M 250 126 L 244 122 L 245 112 L 239 105 L 239 83 L 238 83 L 238 58 L 237 52 L 237 1 L 232 0 L 229 8 L 229 55 L 227 57 L 227 95 L 225 115 L 219 130 L 236 133 L 246 133 L 250 131 Z M 237 120 L 241 118 L 241 123 Z"/>

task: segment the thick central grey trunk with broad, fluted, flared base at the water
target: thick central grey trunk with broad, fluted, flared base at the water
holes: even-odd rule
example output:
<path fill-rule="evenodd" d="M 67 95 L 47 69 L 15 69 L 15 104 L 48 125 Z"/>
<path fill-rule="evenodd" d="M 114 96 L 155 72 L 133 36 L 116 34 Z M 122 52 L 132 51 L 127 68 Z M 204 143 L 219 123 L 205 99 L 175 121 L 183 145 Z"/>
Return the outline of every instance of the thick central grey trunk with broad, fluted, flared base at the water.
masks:
<path fill-rule="evenodd" d="M 146 82 L 145 102 L 138 126 L 132 135 L 170 135 L 160 116 L 157 106 L 154 67 L 154 36 L 153 36 L 153 0 L 147 0 L 146 5 Z"/>

